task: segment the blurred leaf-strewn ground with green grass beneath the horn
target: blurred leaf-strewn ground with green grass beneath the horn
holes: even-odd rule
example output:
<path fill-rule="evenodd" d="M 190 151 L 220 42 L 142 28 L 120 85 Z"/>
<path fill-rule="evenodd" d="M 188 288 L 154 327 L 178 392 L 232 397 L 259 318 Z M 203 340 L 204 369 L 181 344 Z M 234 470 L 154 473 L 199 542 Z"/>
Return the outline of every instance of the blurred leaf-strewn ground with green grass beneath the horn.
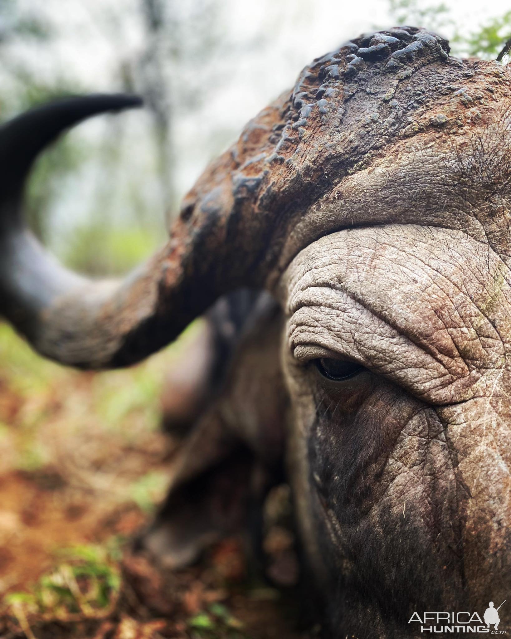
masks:
<path fill-rule="evenodd" d="M 158 405 L 165 353 L 109 376 L 79 373 L 0 325 L 0 360 L 2 639 L 298 637 L 280 591 L 248 578 L 240 539 L 176 572 L 132 551 L 171 471 L 169 438 L 144 408 Z M 294 583 L 287 502 L 285 488 L 270 500 L 266 551 Z"/>

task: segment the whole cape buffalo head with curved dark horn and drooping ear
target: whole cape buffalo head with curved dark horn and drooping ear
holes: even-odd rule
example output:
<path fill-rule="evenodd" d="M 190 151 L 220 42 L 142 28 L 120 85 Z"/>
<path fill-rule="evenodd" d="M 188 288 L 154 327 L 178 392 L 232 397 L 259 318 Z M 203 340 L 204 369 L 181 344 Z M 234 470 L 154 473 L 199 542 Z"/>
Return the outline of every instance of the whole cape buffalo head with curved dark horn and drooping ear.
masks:
<path fill-rule="evenodd" d="M 137 104 L 68 98 L 1 128 L 0 310 L 100 369 L 211 309 L 217 384 L 142 543 L 192 560 L 284 467 L 330 635 L 477 624 L 511 585 L 509 70 L 415 27 L 345 43 L 206 169 L 164 249 L 88 281 L 27 231 L 24 180 L 67 127 Z"/>

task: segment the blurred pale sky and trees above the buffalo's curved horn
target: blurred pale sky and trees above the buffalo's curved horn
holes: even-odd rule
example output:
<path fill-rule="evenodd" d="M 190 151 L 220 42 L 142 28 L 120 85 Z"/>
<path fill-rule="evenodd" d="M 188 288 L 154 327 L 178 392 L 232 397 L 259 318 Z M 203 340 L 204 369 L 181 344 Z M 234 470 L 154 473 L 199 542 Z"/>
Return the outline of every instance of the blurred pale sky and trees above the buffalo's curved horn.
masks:
<path fill-rule="evenodd" d="M 511 35 L 500 1 L 366 4 L 361 15 L 333 0 L 321 11 L 305 0 L 1 0 L 0 118 L 68 93 L 145 101 L 45 153 L 27 199 L 36 235 L 82 272 L 124 272 L 164 242 L 207 162 L 310 59 L 392 23 L 444 33 L 461 56 L 495 58 Z"/>

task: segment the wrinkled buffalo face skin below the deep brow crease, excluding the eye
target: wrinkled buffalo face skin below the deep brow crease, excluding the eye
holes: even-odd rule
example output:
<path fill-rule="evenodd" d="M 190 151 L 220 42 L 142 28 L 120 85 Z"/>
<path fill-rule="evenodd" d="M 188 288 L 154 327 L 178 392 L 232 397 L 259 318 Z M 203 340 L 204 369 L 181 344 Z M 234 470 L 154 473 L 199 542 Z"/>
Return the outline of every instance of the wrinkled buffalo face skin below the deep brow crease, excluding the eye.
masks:
<path fill-rule="evenodd" d="M 286 273 L 299 520 L 356 636 L 507 597 L 510 282 L 487 242 L 406 224 L 329 235 Z M 325 380 L 318 357 L 364 369 Z"/>

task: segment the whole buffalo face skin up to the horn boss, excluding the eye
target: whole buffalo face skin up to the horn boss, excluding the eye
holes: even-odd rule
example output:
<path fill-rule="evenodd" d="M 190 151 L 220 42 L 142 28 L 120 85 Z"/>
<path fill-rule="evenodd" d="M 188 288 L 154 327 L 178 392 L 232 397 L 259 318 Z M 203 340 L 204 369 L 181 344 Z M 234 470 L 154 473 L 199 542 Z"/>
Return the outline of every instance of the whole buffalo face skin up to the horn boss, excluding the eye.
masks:
<path fill-rule="evenodd" d="M 289 475 L 333 636 L 508 596 L 509 146 L 500 106 L 472 138 L 399 141 L 284 245 Z M 318 358 L 363 370 L 326 380 Z"/>

